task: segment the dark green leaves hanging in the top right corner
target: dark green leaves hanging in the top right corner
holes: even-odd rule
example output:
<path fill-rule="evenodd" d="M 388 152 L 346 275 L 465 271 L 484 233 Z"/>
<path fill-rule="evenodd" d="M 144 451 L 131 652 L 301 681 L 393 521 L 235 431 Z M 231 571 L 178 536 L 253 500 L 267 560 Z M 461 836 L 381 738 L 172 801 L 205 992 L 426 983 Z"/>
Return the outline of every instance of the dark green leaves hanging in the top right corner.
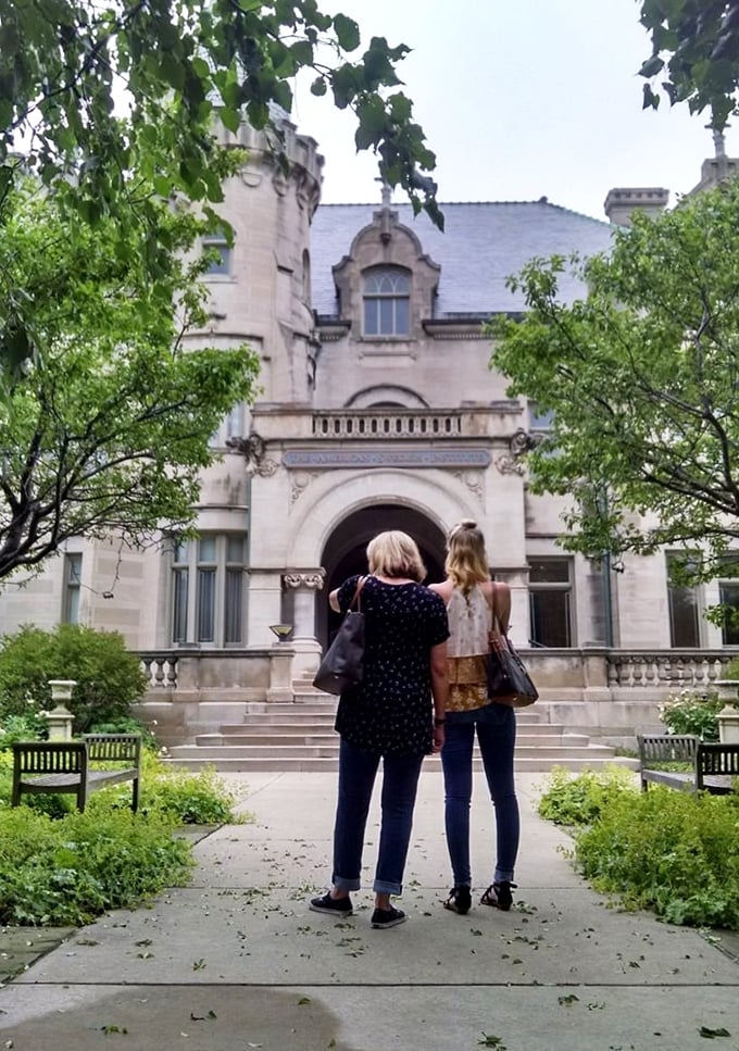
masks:
<path fill-rule="evenodd" d="M 739 88 L 739 2 L 737 0 L 641 0 L 641 24 L 652 38 L 652 54 L 639 71 L 644 108 L 656 109 L 660 86 L 671 104 L 687 102 L 691 113 L 711 113 L 723 132 L 737 112 Z"/>

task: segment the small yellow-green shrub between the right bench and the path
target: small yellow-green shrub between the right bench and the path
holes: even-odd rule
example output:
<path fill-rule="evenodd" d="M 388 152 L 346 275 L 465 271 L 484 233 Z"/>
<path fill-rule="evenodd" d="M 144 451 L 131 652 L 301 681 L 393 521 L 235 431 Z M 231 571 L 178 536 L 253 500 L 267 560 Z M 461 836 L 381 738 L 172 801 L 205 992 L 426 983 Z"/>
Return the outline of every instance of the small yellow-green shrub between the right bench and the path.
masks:
<path fill-rule="evenodd" d="M 622 766 L 586 771 L 577 777 L 561 766 L 550 775 L 550 785 L 539 800 L 539 814 L 556 825 L 589 825 L 611 800 L 634 793 L 634 775 Z"/>

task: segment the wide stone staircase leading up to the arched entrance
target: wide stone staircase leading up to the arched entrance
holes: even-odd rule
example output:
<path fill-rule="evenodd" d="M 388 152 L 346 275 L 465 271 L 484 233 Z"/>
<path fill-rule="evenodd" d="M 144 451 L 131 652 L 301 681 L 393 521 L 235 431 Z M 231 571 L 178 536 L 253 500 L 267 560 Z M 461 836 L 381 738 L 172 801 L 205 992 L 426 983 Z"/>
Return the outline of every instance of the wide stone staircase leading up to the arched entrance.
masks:
<path fill-rule="evenodd" d="M 189 770 L 217 771 L 336 771 L 339 739 L 334 731 L 336 700 L 317 691 L 303 692 L 295 702 L 247 704 L 241 723 L 224 724 L 217 733 L 200 734 L 195 745 L 170 749 L 170 762 Z M 596 745 L 584 734 L 567 733 L 561 724 L 543 721 L 544 705 L 517 713 L 516 770 L 546 772 L 554 766 L 572 771 L 617 763 L 635 766 L 615 755 L 613 748 Z M 429 758 L 439 764 L 438 756 Z M 479 756 L 475 768 L 481 770 Z"/>

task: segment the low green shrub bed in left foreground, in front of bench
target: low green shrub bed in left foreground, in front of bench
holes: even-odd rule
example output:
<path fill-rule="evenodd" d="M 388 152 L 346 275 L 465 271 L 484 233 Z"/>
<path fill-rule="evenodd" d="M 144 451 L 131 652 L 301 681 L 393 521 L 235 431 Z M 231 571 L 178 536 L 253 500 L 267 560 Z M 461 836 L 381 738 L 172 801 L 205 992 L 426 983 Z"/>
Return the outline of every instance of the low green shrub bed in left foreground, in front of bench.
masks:
<path fill-rule="evenodd" d="M 162 813 L 0 810 L 0 924 L 84 924 L 183 886 L 192 859 Z"/>

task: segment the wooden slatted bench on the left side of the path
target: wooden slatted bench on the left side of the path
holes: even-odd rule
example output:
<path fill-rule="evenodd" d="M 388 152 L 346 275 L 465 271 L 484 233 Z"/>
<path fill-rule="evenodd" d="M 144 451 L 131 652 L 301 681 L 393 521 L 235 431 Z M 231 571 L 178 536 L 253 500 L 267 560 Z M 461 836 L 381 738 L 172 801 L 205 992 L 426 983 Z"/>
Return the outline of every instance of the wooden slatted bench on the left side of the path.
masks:
<path fill-rule="evenodd" d="M 125 763 L 114 770 L 92 770 L 91 763 Z M 64 792 L 85 810 L 91 792 L 108 785 L 133 783 L 131 809 L 138 810 L 141 776 L 139 734 L 85 734 L 79 741 L 18 741 L 13 745 L 13 792 L 17 806 L 24 792 Z"/>

